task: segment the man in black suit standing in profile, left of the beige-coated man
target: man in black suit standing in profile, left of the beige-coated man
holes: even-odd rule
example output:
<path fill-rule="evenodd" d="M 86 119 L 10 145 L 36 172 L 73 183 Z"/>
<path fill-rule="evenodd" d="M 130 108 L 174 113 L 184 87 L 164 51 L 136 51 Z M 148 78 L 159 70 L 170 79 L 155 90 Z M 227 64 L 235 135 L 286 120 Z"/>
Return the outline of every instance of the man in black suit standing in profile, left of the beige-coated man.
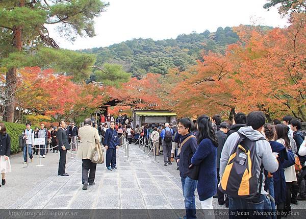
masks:
<path fill-rule="evenodd" d="M 58 175 L 61 175 L 63 177 L 69 176 L 66 174 L 66 155 L 67 150 L 70 149 L 70 144 L 68 142 L 68 136 L 65 132 L 66 123 L 64 121 L 60 121 L 60 129 L 57 132 L 57 139 L 59 141 L 59 151 L 60 151 L 60 162 L 59 162 L 59 171 Z"/>

